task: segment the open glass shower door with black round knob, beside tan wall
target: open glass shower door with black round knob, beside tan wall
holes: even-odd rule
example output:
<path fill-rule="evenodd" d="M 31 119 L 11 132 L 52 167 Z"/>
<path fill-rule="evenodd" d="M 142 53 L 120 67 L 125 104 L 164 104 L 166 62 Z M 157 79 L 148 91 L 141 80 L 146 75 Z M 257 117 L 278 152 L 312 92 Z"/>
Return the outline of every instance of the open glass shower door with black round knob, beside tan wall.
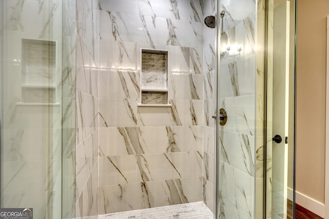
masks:
<path fill-rule="evenodd" d="M 266 217 L 294 217 L 295 2 L 268 1 Z"/>

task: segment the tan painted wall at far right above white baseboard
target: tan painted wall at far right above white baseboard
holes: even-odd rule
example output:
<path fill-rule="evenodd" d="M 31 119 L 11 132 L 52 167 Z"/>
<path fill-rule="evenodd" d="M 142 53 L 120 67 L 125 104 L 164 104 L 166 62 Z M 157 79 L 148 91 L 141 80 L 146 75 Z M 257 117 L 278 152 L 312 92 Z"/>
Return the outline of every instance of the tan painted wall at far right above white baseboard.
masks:
<path fill-rule="evenodd" d="M 329 2 L 298 1 L 297 7 L 296 191 L 324 203 L 326 16 Z M 314 116 L 308 118 L 309 113 Z"/>

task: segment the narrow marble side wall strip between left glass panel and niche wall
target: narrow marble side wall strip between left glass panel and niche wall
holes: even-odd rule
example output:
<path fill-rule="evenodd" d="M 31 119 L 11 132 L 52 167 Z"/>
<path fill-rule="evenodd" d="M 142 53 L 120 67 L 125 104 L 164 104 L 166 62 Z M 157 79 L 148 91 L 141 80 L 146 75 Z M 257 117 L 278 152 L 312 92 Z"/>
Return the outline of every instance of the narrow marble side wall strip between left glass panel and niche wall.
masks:
<path fill-rule="evenodd" d="M 76 218 L 97 218 L 99 2 L 76 4 Z"/>

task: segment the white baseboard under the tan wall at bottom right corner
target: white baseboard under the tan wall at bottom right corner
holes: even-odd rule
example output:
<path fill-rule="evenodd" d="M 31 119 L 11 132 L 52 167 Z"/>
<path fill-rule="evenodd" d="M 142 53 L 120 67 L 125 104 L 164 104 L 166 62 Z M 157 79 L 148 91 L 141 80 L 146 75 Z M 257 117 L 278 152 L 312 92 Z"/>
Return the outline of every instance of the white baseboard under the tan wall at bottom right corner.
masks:
<path fill-rule="evenodd" d="M 288 188 L 288 199 L 294 199 L 294 191 Z M 296 203 L 324 218 L 324 204 L 296 191 Z"/>

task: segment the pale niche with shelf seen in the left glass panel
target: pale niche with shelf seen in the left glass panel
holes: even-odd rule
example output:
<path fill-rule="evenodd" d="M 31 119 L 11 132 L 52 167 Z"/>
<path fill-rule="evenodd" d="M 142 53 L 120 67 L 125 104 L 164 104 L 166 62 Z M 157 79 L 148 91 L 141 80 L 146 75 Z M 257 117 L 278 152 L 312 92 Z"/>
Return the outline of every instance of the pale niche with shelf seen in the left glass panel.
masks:
<path fill-rule="evenodd" d="M 56 103 L 55 72 L 56 42 L 22 39 L 23 104 Z"/>

